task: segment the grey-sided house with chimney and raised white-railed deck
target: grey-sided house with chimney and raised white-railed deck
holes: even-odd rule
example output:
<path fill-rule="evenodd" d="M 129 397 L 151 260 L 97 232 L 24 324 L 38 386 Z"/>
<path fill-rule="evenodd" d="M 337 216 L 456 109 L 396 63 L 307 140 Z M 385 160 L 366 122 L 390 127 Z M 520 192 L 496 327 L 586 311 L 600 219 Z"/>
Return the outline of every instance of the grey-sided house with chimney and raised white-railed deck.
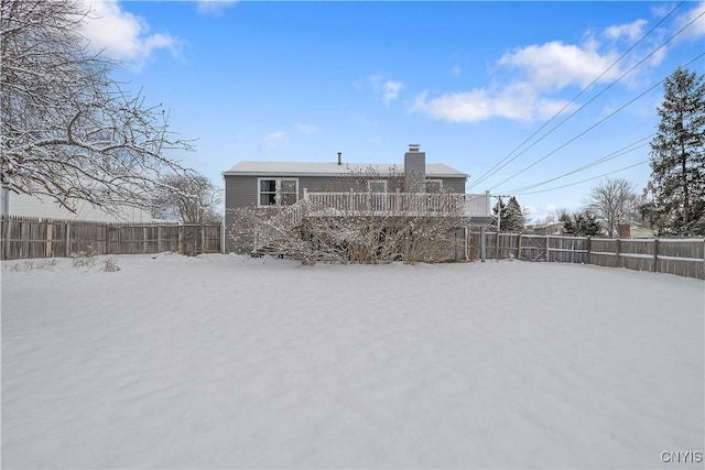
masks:
<path fill-rule="evenodd" d="M 338 153 L 337 162 L 329 163 L 243 161 L 223 177 L 225 252 L 238 251 L 227 234 L 240 208 L 281 207 L 303 219 L 325 214 L 382 217 L 401 207 L 405 214 L 442 217 L 452 207 L 462 211 L 467 226 L 491 221 L 489 195 L 465 194 L 468 175 L 426 163 L 416 144 L 409 146 L 403 165 L 344 163 Z"/>

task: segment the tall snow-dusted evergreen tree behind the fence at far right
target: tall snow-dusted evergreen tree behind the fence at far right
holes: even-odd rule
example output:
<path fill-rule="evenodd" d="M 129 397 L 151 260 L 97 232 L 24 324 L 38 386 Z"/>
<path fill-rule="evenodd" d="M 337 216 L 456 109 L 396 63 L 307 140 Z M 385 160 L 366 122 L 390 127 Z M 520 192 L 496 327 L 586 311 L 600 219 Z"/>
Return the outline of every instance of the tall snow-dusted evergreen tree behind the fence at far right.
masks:
<path fill-rule="evenodd" d="M 669 76 L 651 141 L 644 218 L 661 234 L 705 234 L 705 78 L 679 67 Z"/>

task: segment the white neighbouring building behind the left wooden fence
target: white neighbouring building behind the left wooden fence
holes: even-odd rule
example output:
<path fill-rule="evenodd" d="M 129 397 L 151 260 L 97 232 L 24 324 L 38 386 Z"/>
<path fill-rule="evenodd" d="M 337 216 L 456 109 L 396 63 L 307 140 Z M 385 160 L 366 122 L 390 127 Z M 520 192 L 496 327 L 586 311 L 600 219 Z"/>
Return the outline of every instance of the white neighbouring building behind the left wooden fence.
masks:
<path fill-rule="evenodd" d="M 61 207 L 48 197 L 36 197 L 0 189 L 2 216 L 36 217 L 40 219 L 86 220 L 91 222 L 143 223 L 152 220 L 149 212 L 133 207 L 121 207 L 119 214 L 108 214 L 88 201 L 78 201 L 76 212 Z"/>

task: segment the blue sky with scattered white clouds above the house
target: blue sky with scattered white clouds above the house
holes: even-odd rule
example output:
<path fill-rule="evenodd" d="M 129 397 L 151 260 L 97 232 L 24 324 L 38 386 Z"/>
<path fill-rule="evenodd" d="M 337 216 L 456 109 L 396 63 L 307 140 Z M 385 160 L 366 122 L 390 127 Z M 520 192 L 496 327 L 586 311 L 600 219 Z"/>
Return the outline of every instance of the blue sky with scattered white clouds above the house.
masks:
<path fill-rule="evenodd" d="M 241 160 L 401 164 L 417 143 L 534 221 L 578 209 L 584 179 L 631 166 L 610 177 L 643 188 L 659 83 L 705 73 L 704 2 L 89 3 L 91 46 L 218 184 Z"/>

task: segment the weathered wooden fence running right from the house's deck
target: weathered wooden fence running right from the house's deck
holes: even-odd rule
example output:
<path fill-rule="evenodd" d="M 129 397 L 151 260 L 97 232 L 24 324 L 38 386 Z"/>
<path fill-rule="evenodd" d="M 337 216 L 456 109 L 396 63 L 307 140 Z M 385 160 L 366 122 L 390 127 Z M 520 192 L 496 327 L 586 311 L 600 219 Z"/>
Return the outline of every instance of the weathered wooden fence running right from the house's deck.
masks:
<path fill-rule="evenodd" d="M 605 239 L 486 233 L 486 256 L 558 263 L 585 263 L 705 278 L 705 239 Z M 469 236 L 479 258 L 480 234 Z"/>

